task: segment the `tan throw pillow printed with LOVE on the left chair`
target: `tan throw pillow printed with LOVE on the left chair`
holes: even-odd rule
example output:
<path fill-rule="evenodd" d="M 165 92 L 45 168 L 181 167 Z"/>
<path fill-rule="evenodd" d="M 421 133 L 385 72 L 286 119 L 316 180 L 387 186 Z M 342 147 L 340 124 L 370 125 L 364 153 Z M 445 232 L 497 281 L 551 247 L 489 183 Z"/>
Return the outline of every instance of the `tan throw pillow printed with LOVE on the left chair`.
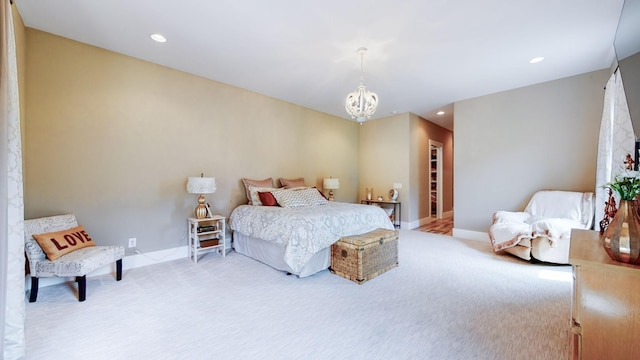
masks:
<path fill-rule="evenodd" d="M 83 247 L 96 245 L 82 226 L 45 234 L 33 234 L 33 238 L 51 261 Z"/>

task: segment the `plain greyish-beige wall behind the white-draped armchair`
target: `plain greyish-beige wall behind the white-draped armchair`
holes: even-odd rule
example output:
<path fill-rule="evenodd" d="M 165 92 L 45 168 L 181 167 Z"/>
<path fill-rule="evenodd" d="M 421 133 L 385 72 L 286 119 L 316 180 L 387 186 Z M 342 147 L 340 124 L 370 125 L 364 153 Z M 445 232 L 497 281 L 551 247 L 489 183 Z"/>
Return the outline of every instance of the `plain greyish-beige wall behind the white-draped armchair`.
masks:
<path fill-rule="evenodd" d="M 454 228 L 486 233 L 495 211 L 522 210 L 537 190 L 595 191 L 608 76 L 604 69 L 457 102 Z"/>

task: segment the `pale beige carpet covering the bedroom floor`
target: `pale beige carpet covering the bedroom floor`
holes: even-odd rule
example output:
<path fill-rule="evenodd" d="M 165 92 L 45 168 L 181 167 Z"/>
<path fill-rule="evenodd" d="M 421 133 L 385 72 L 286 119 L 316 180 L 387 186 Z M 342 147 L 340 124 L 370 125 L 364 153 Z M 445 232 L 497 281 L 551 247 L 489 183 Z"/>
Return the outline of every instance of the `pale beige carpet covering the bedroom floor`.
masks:
<path fill-rule="evenodd" d="M 27 304 L 27 358 L 568 356 L 570 267 L 418 231 L 399 241 L 400 266 L 363 285 L 329 271 L 287 276 L 232 252 L 89 278 L 84 303 L 71 282 L 45 287 Z"/>

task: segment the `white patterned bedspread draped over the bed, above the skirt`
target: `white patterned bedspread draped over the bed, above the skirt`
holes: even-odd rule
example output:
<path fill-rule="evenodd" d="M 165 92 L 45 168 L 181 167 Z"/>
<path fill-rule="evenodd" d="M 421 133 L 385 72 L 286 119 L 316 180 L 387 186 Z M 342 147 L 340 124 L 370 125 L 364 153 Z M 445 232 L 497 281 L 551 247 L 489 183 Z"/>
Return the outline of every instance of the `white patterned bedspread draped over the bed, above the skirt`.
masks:
<path fill-rule="evenodd" d="M 229 228 L 282 246 L 285 262 L 298 272 L 341 237 L 393 229 L 393 224 L 380 207 L 330 202 L 288 208 L 240 205 L 229 216 Z"/>

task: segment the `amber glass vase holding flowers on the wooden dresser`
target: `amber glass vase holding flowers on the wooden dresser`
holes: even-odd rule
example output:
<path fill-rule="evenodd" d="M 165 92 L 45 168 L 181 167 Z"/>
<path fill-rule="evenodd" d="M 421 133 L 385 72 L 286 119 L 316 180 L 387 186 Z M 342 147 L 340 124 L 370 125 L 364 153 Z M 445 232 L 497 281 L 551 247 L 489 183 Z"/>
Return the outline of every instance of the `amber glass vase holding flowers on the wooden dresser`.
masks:
<path fill-rule="evenodd" d="M 600 237 L 607 254 L 616 261 L 640 264 L 640 215 L 633 200 L 620 200 L 613 220 Z"/>

